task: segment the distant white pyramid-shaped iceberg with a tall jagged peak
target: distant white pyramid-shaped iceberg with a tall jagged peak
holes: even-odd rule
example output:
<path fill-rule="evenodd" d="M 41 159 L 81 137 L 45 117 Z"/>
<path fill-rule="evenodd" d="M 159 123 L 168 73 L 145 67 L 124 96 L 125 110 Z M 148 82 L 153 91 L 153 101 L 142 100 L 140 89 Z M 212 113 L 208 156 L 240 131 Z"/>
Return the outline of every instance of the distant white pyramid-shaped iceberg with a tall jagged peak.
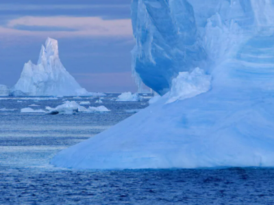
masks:
<path fill-rule="evenodd" d="M 52 38 L 42 45 L 37 65 L 32 61 L 25 64 L 21 78 L 12 87 L 12 92 L 16 90 L 32 96 L 87 94 L 62 65 L 58 42 Z"/>

